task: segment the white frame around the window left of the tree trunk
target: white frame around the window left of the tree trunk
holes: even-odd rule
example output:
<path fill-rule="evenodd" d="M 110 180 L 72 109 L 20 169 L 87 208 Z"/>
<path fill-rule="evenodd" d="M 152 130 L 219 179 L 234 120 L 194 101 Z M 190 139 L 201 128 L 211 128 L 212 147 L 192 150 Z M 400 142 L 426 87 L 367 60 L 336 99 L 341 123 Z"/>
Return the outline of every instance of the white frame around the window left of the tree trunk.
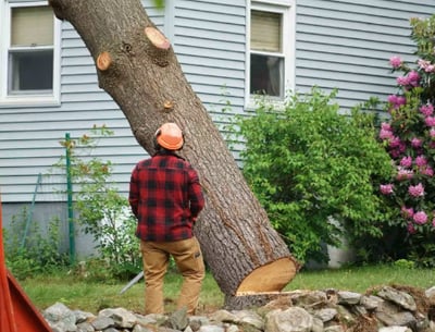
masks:
<path fill-rule="evenodd" d="M 9 95 L 9 54 L 11 45 L 11 11 L 20 7 L 47 7 L 48 1 L 17 2 L 9 1 L 0 3 L 0 108 L 5 107 L 50 107 L 60 104 L 60 42 L 61 22 L 53 20 L 53 88 L 51 94 L 23 94 Z"/>

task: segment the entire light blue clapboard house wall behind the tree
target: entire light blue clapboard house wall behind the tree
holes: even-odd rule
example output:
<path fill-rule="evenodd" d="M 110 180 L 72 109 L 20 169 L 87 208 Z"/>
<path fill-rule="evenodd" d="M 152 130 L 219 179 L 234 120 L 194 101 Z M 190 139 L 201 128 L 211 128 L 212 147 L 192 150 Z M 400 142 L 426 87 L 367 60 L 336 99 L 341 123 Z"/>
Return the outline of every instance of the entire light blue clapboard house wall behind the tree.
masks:
<path fill-rule="evenodd" d="M 24 1 L 24 0 L 15 0 Z M 216 124 L 243 113 L 247 52 L 247 0 L 166 0 L 164 11 L 142 1 L 151 20 L 170 38 L 194 90 Z M 431 2 L 431 3 L 430 3 Z M 388 59 L 400 54 L 414 61 L 409 19 L 435 13 L 426 0 L 298 0 L 295 41 L 295 90 L 313 85 L 338 88 L 343 109 L 395 91 Z M 226 112 L 222 110 L 231 104 Z M 59 144 L 70 133 L 78 137 L 94 124 L 105 124 L 105 138 L 96 156 L 114 163 L 113 180 L 127 193 L 135 162 L 146 156 L 124 114 L 98 87 L 94 61 L 67 22 L 61 33 L 61 104 L 2 107 L 0 104 L 0 188 L 9 222 L 35 198 L 35 216 L 48 218 L 64 209 L 65 176 L 42 176 L 65 153 Z M 234 151 L 235 156 L 237 151 Z M 36 195 L 35 195 L 35 192 Z"/>

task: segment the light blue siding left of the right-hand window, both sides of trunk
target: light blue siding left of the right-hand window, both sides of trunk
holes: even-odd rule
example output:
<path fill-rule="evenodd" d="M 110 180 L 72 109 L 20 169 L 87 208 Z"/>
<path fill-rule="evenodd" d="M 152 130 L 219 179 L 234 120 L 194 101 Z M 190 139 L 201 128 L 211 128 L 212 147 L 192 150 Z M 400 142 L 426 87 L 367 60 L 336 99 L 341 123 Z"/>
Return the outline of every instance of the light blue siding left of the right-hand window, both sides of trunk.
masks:
<path fill-rule="evenodd" d="M 23 1 L 23 0 L 16 0 Z M 174 50 L 206 107 L 220 113 L 224 87 L 238 112 L 244 104 L 246 1 L 166 1 L 173 9 L 142 1 L 152 22 L 172 38 Z M 199 10 L 200 9 L 200 10 Z M 165 13 L 173 20 L 165 20 Z M 229 14 L 228 14 L 229 13 Z M 166 26 L 164 25 L 166 24 Z M 117 104 L 98 87 L 95 63 L 73 26 L 62 23 L 61 106 L 0 106 L 0 187 L 3 202 L 28 202 L 39 173 L 64 156 L 65 133 L 78 137 L 105 124 L 114 137 L 101 140 L 94 156 L 114 164 L 113 181 L 126 193 L 134 164 L 146 156 Z M 58 171 L 59 172 L 59 171 Z M 37 201 L 58 201 L 64 174 L 44 176 Z"/>

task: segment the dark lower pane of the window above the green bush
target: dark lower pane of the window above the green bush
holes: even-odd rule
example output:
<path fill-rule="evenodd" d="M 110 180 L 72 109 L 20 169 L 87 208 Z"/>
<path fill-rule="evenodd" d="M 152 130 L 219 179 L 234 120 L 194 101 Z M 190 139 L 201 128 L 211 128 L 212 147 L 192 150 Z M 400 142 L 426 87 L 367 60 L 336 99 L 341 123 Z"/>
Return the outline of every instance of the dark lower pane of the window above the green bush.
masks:
<path fill-rule="evenodd" d="M 250 93 L 284 96 L 284 60 L 279 57 L 251 54 Z"/>

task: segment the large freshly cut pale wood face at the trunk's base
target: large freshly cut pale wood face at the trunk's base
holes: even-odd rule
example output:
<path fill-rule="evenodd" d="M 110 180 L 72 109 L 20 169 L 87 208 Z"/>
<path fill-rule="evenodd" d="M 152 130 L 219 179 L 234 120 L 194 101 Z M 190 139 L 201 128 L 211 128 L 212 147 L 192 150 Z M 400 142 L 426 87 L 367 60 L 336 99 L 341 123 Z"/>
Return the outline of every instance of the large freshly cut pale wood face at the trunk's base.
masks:
<path fill-rule="evenodd" d="M 296 275 L 297 263 L 291 258 L 279 258 L 249 273 L 237 288 L 236 296 L 281 292 Z"/>

